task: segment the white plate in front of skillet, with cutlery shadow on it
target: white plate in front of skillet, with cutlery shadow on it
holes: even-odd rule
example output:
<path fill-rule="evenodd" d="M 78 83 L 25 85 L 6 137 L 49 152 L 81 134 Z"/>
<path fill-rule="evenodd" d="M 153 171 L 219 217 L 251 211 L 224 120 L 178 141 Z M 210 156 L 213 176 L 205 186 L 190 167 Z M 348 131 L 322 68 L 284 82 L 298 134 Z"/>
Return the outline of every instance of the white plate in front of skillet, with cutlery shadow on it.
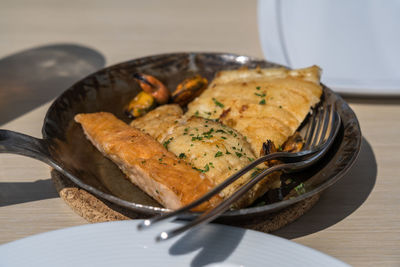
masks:
<path fill-rule="evenodd" d="M 166 223 L 138 232 L 138 221 L 90 224 L 0 246 L 0 266 L 348 266 L 294 242 L 210 224 L 162 243 Z"/>

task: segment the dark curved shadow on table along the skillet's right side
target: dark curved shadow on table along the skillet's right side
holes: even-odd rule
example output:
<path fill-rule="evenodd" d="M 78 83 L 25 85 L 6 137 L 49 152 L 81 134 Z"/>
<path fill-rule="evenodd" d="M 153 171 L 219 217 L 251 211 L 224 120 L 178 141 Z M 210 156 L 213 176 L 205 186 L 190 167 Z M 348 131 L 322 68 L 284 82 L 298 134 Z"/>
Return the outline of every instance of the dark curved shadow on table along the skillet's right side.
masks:
<path fill-rule="evenodd" d="M 328 228 L 356 211 L 374 188 L 377 165 L 374 152 L 363 138 L 361 151 L 350 171 L 327 189 L 317 204 L 304 216 L 272 234 L 296 238 Z"/>

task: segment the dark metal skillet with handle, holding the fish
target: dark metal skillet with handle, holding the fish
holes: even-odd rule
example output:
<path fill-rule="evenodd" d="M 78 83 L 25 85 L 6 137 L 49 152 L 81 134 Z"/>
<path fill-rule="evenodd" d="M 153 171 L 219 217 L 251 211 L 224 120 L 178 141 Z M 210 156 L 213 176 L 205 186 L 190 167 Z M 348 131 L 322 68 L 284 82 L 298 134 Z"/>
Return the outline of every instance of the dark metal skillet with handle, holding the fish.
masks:
<path fill-rule="evenodd" d="M 166 212 L 167 209 L 128 182 L 118 167 L 86 140 L 81 127 L 74 122 L 74 116 L 108 111 L 129 122 L 123 114 L 123 107 L 140 91 L 131 78 L 135 72 L 153 75 L 173 90 L 184 78 L 194 74 L 212 80 L 219 70 L 243 66 L 268 68 L 279 65 L 226 53 L 174 53 L 144 57 L 105 68 L 77 82 L 54 101 L 44 119 L 43 139 L 0 130 L 0 152 L 41 160 L 93 195 L 143 216 Z M 305 185 L 302 194 L 275 203 L 260 202 L 257 206 L 228 211 L 221 216 L 222 219 L 260 218 L 320 193 L 350 168 L 361 144 L 357 118 L 340 96 L 326 86 L 323 90 L 322 101 L 336 106 L 342 126 L 325 158 L 299 178 Z"/>

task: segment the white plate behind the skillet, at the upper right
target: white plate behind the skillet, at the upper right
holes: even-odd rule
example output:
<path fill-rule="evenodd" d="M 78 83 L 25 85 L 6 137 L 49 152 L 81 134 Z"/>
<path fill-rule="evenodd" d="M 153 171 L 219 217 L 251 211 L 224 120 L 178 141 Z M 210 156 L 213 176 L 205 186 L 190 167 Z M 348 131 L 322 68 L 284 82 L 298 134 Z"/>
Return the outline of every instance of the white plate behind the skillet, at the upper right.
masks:
<path fill-rule="evenodd" d="M 400 1 L 259 0 L 267 60 L 317 64 L 339 93 L 400 95 Z"/>

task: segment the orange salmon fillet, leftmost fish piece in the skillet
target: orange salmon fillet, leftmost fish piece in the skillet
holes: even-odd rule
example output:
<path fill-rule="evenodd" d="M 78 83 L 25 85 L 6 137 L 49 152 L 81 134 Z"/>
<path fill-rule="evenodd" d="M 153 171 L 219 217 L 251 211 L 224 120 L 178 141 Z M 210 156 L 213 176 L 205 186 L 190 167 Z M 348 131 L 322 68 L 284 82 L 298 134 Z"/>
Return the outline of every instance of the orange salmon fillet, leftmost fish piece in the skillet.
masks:
<path fill-rule="evenodd" d="M 215 186 L 207 175 L 168 152 L 151 136 L 106 112 L 78 114 L 86 137 L 127 175 L 129 180 L 164 207 L 177 209 Z M 220 202 L 215 196 L 199 206 L 204 210 Z"/>

